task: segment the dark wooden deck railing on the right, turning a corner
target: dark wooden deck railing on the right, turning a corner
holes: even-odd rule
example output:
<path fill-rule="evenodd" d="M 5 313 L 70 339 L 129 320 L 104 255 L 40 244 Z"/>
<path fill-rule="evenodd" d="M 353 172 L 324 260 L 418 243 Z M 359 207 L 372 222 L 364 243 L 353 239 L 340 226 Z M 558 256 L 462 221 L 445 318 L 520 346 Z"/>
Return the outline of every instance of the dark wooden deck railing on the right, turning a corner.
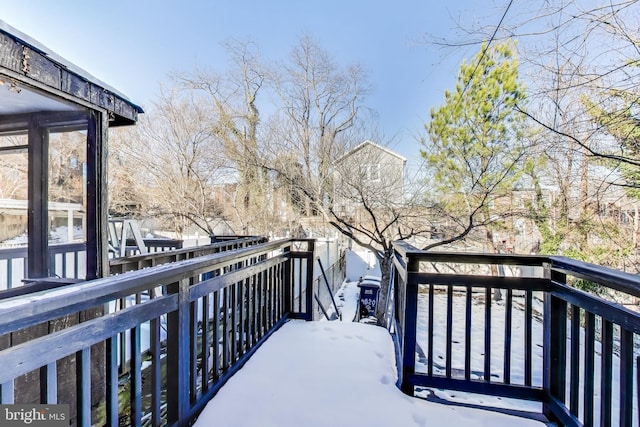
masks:
<path fill-rule="evenodd" d="M 431 387 L 535 400 L 558 425 L 638 425 L 640 315 L 574 286 L 597 284 L 633 300 L 638 276 L 563 257 L 424 252 L 405 243 L 395 254 L 405 393 Z M 528 274 L 500 276 L 491 266 Z"/>

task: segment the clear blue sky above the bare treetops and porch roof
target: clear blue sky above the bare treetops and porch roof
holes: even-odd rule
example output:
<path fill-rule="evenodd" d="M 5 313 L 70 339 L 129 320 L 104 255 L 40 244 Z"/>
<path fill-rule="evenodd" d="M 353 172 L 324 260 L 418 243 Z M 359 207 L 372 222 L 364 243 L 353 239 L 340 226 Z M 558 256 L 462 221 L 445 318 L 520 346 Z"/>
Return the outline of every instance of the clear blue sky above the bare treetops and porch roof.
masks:
<path fill-rule="evenodd" d="M 478 4 L 481 3 L 481 4 Z M 410 162 L 430 107 L 453 88 L 469 49 L 441 51 L 426 33 L 453 36 L 499 15 L 505 1 L 473 0 L 0 0 L 0 19 L 115 87 L 143 108 L 168 73 L 195 64 L 226 68 L 221 42 L 258 42 L 263 57 L 285 58 L 311 34 L 342 64 L 359 62 L 389 146 Z"/>

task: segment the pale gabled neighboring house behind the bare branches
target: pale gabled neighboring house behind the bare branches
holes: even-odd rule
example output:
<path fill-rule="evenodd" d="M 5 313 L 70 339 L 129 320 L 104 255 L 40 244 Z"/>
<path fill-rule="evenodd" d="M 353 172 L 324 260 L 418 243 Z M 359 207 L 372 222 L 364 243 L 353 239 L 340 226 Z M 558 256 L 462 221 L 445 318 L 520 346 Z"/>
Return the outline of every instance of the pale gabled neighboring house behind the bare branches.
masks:
<path fill-rule="evenodd" d="M 364 141 L 334 163 L 333 205 L 353 213 L 359 207 L 399 207 L 404 204 L 407 159 L 372 141 Z"/>

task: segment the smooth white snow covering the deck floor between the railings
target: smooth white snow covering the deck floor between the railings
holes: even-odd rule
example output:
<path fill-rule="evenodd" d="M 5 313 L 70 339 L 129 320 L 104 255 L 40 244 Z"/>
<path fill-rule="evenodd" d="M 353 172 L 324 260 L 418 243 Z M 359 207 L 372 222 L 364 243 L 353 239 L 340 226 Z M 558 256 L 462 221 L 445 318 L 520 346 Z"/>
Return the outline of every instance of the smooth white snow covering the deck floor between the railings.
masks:
<path fill-rule="evenodd" d="M 396 387 L 389 333 L 349 322 L 291 321 L 222 387 L 195 426 L 543 426 L 411 398 Z"/>

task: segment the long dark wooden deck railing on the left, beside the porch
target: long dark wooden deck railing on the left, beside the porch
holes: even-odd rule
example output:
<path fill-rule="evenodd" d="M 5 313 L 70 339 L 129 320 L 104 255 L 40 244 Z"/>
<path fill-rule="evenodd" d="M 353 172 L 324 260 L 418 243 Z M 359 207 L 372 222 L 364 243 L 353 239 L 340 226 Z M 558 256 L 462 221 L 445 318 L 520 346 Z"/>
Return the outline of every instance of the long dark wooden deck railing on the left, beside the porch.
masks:
<path fill-rule="evenodd" d="M 311 319 L 313 252 L 262 243 L 0 300 L 0 403 L 68 404 L 82 426 L 188 425 L 279 325 Z"/>

